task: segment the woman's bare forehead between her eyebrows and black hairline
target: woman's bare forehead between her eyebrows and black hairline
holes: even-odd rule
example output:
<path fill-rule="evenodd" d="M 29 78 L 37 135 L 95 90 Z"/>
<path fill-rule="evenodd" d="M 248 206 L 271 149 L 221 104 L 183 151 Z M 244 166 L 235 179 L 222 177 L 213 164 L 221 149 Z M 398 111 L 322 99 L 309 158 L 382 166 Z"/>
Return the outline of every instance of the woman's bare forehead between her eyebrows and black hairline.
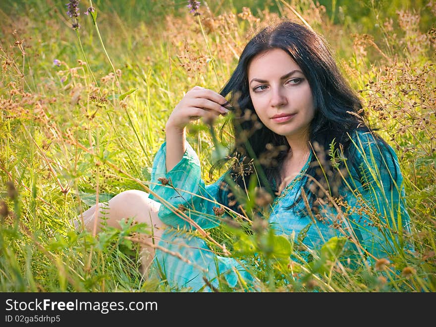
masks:
<path fill-rule="evenodd" d="M 292 70 L 301 70 L 301 68 L 287 52 L 274 48 L 256 55 L 248 65 L 247 73 L 250 78 L 261 75 L 283 75 Z"/>

